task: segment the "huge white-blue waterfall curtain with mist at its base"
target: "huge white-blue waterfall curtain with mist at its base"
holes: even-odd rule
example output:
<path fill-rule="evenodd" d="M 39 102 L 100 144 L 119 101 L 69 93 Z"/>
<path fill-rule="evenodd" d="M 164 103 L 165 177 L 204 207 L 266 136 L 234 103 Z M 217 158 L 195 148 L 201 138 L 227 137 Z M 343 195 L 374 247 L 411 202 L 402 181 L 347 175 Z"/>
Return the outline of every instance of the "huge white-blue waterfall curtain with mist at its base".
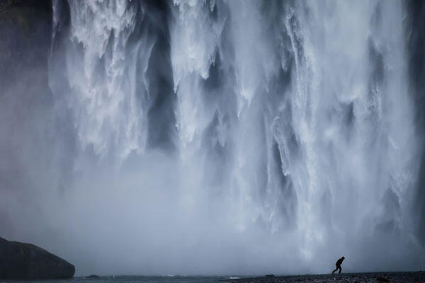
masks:
<path fill-rule="evenodd" d="M 49 86 L 72 169 L 44 209 L 80 246 L 56 249 L 91 273 L 423 267 L 405 13 L 54 0 Z"/>

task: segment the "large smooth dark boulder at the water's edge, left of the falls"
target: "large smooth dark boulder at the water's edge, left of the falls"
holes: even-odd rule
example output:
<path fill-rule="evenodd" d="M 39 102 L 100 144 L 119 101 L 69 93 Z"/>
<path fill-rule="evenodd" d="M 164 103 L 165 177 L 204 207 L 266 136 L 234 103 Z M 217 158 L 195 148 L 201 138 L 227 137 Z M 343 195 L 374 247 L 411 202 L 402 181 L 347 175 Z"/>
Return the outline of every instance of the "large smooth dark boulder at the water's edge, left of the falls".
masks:
<path fill-rule="evenodd" d="M 64 279 L 74 272 L 74 265 L 47 250 L 0 238 L 0 279 Z"/>

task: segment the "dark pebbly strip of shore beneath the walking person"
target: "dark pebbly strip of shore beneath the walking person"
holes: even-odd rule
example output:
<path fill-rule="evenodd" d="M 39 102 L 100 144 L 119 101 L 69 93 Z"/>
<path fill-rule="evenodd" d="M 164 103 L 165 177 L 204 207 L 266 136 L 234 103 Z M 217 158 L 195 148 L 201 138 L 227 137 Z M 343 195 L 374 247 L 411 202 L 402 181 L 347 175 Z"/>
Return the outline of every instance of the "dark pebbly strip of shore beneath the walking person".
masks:
<path fill-rule="evenodd" d="M 223 280 L 232 283 L 285 283 L 285 282 L 425 282 L 425 272 L 370 272 L 343 273 L 339 275 L 295 275 L 295 276 L 266 276 L 241 279 Z"/>

